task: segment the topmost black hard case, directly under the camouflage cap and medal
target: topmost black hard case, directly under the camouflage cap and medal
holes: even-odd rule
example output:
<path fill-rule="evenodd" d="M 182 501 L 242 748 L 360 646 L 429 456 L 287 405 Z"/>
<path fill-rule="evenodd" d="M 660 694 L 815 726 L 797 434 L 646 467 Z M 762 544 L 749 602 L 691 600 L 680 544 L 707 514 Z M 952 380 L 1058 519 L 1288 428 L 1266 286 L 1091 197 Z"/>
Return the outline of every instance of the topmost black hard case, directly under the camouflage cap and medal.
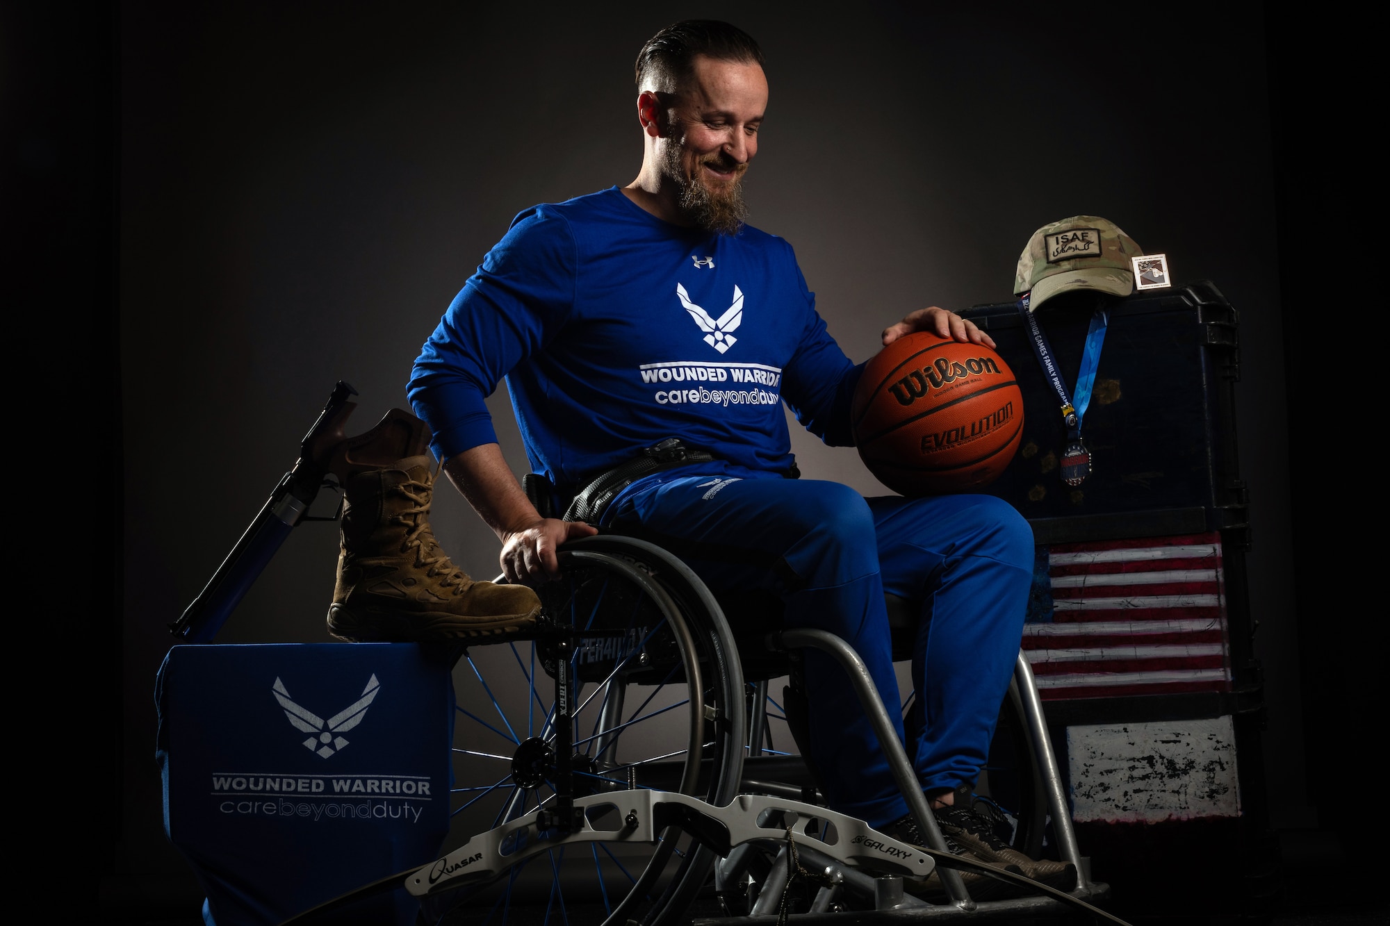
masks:
<path fill-rule="evenodd" d="M 1037 318 L 1068 388 L 1076 385 L 1091 292 L 1055 298 Z M 1017 456 L 986 492 L 1013 503 L 1040 544 L 1219 530 L 1248 548 L 1245 485 L 1236 453 L 1236 310 L 1209 282 L 1112 302 L 1083 420 L 1093 476 L 1062 484 L 1061 403 L 1033 355 L 1016 304 L 965 313 L 987 331 L 1023 391 Z"/>

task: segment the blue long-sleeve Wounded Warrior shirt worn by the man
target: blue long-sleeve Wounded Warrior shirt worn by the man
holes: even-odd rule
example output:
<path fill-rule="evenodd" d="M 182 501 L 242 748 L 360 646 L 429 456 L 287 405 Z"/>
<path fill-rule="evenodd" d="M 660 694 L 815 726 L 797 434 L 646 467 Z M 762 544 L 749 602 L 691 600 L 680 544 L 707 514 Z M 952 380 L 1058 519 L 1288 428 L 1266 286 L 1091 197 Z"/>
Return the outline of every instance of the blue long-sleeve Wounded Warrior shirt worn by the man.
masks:
<path fill-rule="evenodd" d="M 787 470 L 781 402 L 851 445 L 860 370 L 785 241 L 680 228 L 614 186 L 513 220 L 425 342 L 409 396 L 448 459 L 496 441 L 484 399 L 505 377 L 532 470 L 580 485 L 669 437 Z"/>

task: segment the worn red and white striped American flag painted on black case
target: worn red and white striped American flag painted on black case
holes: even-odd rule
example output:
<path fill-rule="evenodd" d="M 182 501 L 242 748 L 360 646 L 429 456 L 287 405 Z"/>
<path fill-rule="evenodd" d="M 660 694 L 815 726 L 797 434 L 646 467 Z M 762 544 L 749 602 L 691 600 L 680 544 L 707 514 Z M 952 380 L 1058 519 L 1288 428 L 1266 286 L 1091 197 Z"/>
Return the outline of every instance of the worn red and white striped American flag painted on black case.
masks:
<path fill-rule="evenodd" d="M 1038 546 L 1023 652 L 1048 701 L 1227 691 L 1220 535 Z"/>

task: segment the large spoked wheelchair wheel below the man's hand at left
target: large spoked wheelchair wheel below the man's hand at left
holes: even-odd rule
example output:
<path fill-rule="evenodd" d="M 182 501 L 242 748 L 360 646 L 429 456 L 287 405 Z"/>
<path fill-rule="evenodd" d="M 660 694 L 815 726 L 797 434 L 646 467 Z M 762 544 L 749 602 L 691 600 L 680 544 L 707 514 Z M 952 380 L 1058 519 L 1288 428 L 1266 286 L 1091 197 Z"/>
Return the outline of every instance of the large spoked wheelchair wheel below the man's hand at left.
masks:
<path fill-rule="evenodd" d="M 727 804 L 746 738 L 744 683 L 713 596 L 674 556 L 623 537 L 567 544 L 560 573 L 538 591 L 549 622 L 581 631 L 570 656 L 574 794 L 637 787 Z M 552 806 L 556 659 L 535 640 L 475 647 L 460 660 L 450 847 Z M 674 829 L 655 847 L 580 843 L 486 887 L 427 898 L 425 919 L 567 923 L 566 908 L 584 905 L 614 926 L 659 926 L 687 909 L 712 863 Z"/>

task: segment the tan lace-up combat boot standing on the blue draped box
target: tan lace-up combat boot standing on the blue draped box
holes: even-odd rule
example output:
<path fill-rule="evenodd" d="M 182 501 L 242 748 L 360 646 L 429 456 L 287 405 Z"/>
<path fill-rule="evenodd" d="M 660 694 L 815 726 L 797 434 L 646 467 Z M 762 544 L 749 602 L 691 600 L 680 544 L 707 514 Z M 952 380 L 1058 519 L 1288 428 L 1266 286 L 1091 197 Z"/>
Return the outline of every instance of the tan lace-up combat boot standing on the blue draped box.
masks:
<path fill-rule="evenodd" d="M 328 470 L 345 496 L 328 633 L 404 642 L 509 637 L 535 626 L 534 591 L 474 581 L 439 548 L 430 528 L 435 469 L 424 421 L 392 409 L 334 448 Z"/>

